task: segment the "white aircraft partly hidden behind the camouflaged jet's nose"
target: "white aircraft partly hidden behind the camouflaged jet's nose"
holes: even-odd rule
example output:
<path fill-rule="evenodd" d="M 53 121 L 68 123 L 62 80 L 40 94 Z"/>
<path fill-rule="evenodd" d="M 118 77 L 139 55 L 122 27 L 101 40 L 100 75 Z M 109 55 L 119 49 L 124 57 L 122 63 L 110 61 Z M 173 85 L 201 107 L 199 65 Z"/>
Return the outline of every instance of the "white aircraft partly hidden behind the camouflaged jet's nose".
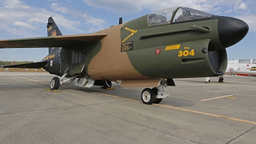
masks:
<path fill-rule="evenodd" d="M 225 74 L 237 76 L 256 77 L 256 59 L 243 59 L 228 61 Z M 219 77 L 219 82 L 223 82 L 224 74 Z M 205 77 L 205 83 L 210 82 L 210 77 Z"/>

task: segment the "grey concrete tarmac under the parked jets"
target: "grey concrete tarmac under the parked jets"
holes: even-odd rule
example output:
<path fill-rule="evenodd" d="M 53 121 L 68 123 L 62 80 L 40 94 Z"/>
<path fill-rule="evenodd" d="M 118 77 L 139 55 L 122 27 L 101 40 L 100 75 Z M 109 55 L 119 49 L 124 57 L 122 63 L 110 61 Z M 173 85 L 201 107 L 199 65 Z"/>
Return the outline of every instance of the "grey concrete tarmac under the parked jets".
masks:
<path fill-rule="evenodd" d="M 52 77 L 0 72 L 0 143 L 256 143 L 256 77 L 174 79 L 152 105 L 116 83 L 45 91 Z"/>

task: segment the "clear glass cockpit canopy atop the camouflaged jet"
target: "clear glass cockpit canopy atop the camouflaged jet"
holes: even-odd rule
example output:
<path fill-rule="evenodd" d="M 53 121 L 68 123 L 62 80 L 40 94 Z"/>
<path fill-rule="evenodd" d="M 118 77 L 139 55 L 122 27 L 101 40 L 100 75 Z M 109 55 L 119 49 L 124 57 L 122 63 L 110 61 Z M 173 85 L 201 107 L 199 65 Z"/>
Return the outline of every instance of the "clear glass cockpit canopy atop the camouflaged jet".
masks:
<path fill-rule="evenodd" d="M 174 15 L 173 20 L 172 15 Z M 172 22 L 182 22 L 186 20 L 203 19 L 211 16 L 212 14 L 200 12 L 198 10 L 193 10 L 192 8 L 165 8 L 163 10 L 157 10 L 156 12 L 148 14 L 148 26 L 168 24 L 171 22 L 171 20 Z"/>

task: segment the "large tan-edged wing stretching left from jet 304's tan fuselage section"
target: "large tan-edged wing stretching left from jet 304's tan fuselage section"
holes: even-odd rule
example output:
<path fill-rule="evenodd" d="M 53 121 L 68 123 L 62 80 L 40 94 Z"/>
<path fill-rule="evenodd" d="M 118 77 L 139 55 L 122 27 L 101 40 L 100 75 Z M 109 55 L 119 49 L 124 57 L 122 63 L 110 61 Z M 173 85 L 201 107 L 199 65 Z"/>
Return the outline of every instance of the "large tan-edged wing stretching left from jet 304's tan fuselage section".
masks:
<path fill-rule="evenodd" d="M 84 35 L 45 36 L 36 38 L 19 38 L 0 40 L 0 48 L 35 48 L 35 47 L 68 47 L 83 45 L 86 42 L 97 40 L 108 33 L 91 33 Z"/>

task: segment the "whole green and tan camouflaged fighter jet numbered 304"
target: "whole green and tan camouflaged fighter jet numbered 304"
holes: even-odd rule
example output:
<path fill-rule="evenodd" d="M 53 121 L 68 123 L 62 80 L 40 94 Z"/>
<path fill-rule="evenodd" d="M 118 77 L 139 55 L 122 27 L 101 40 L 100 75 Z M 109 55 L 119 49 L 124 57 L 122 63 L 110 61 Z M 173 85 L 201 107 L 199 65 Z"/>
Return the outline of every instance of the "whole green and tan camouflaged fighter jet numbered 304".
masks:
<path fill-rule="evenodd" d="M 221 76 L 227 68 L 227 47 L 248 32 L 240 19 L 187 7 L 166 8 L 138 19 L 84 35 L 65 35 L 50 17 L 48 36 L 0 40 L 4 48 L 49 47 L 41 62 L 8 67 L 44 68 L 53 77 L 51 90 L 67 81 L 76 86 L 140 86 L 144 104 L 170 97 L 164 87 L 173 79 Z"/>

